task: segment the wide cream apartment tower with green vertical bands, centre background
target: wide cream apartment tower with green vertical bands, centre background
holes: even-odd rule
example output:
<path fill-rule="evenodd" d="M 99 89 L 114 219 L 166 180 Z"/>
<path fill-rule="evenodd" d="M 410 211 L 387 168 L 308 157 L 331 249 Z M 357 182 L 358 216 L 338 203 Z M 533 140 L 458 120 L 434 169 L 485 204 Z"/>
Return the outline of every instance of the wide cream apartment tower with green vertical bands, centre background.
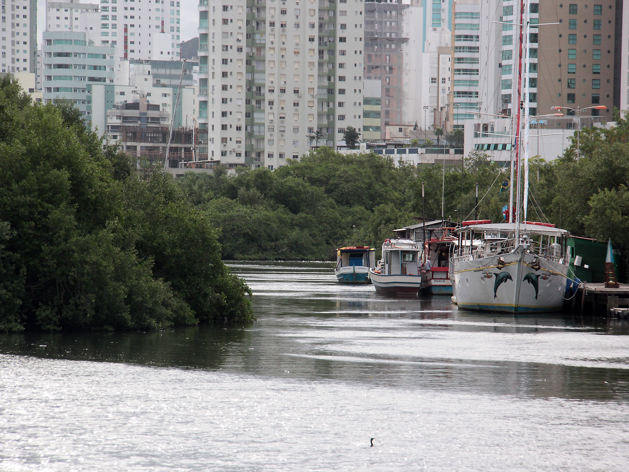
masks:
<path fill-rule="evenodd" d="M 208 159 L 274 169 L 316 145 L 311 133 L 333 147 L 347 126 L 362 132 L 363 0 L 199 3 Z"/>

